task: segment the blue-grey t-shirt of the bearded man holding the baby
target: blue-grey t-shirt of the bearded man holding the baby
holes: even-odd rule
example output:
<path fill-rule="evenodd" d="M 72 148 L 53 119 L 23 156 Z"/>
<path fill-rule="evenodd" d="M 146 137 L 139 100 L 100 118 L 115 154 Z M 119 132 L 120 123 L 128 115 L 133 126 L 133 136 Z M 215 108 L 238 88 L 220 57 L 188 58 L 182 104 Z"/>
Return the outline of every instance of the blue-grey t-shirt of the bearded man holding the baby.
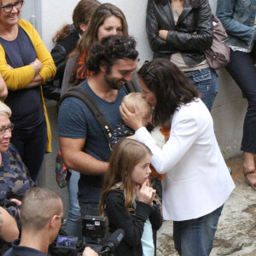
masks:
<path fill-rule="evenodd" d="M 106 102 L 101 97 L 96 96 L 85 80 L 80 87 L 88 90 L 90 96 L 96 101 L 102 110 L 109 125 L 113 128 L 122 121 L 119 106 L 128 90 L 123 86 L 114 102 Z M 68 97 L 61 103 L 58 115 L 59 136 L 69 138 L 86 138 L 84 152 L 95 157 L 97 160 L 108 160 L 111 151 L 108 140 L 105 137 L 101 126 L 90 112 L 90 109 L 76 97 Z M 100 151 L 104 159 L 96 152 Z M 99 202 L 102 191 L 102 176 L 89 176 L 82 174 L 79 180 L 79 201 Z"/>

